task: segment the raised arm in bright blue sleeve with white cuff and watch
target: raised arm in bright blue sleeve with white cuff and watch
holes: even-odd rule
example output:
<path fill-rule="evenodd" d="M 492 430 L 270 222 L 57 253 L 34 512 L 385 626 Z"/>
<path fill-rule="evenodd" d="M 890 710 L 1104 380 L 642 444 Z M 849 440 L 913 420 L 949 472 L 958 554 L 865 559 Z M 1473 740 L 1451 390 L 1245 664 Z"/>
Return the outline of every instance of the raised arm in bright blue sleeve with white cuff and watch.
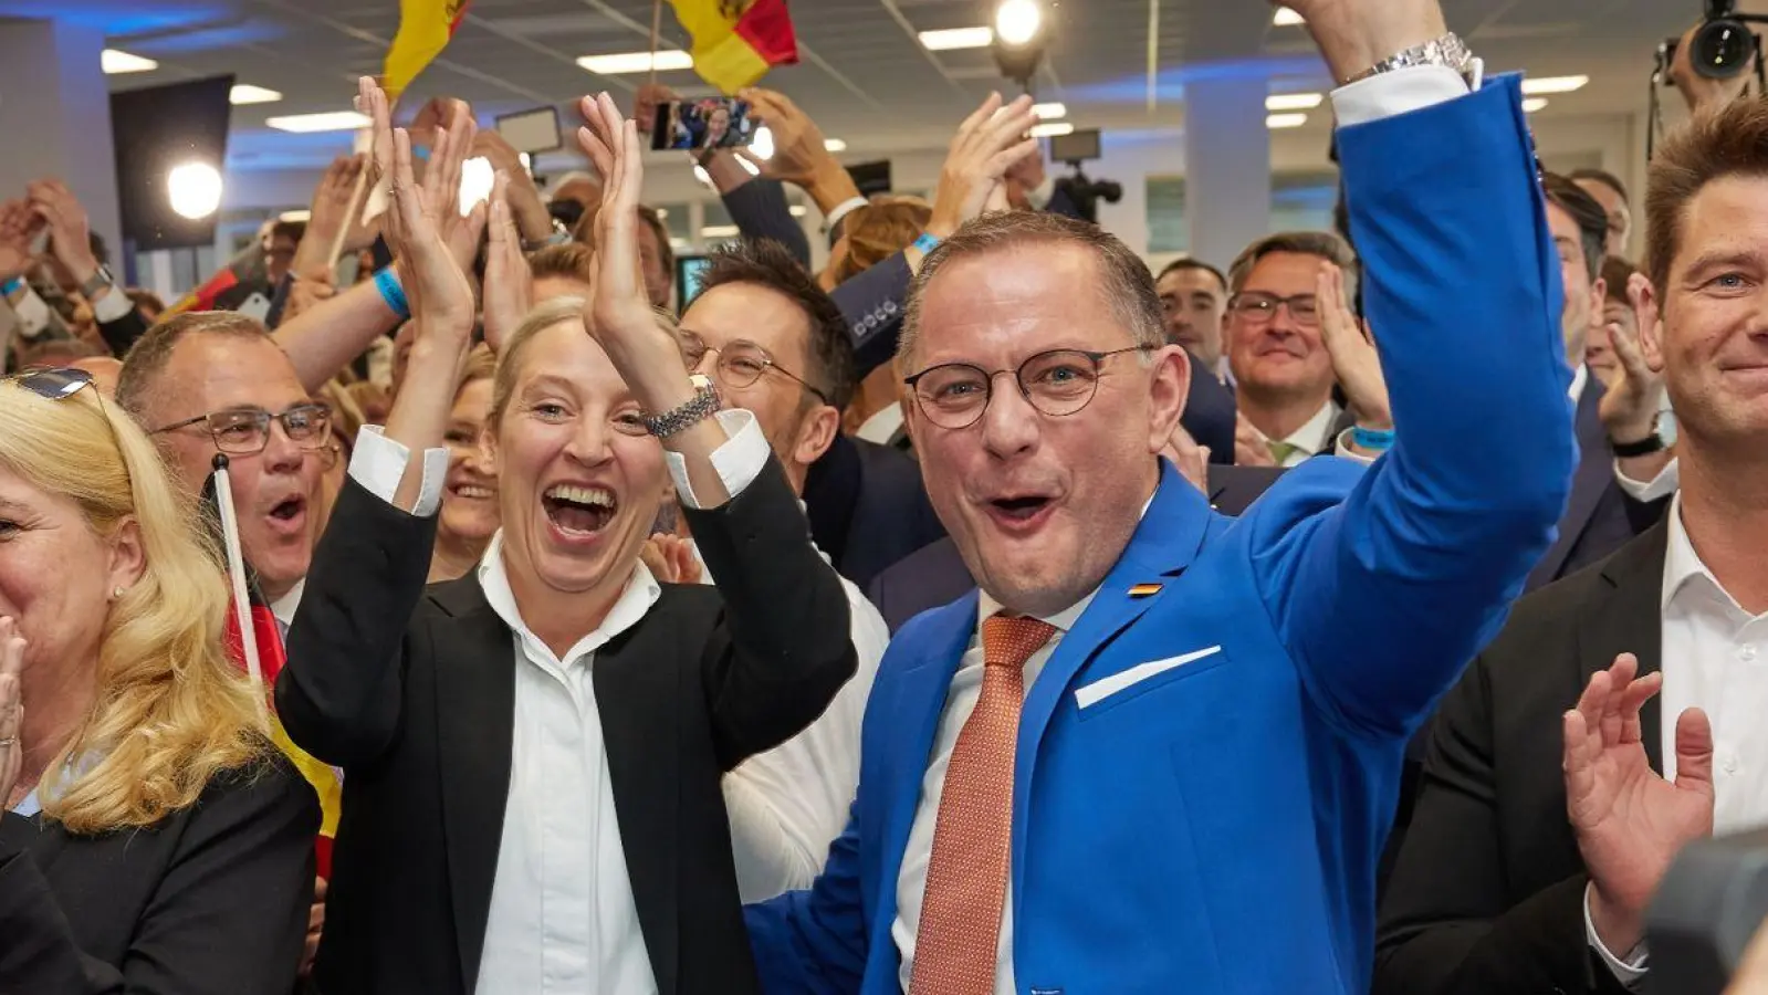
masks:
<path fill-rule="evenodd" d="M 1444 34 L 1436 0 L 1298 9 L 1338 80 Z M 1425 65 L 1333 94 L 1397 438 L 1342 504 L 1250 518 L 1310 698 L 1379 737 L 1416 728 L 1496 633 L 1552 541 L 1574 465 L 1561 288 L 1520 88 L 1466 90 Z M 1299 486 L 1330 470 L 1291 474 Z"/>

